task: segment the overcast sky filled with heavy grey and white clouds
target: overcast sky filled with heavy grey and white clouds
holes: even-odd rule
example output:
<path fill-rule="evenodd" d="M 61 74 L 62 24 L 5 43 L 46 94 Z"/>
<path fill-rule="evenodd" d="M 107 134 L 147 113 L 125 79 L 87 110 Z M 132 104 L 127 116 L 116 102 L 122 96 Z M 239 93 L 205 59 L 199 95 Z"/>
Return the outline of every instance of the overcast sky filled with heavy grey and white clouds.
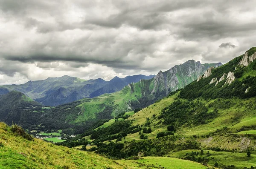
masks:
<path fill-rule="evenodd" d="M 256 0 L 0 0 L 0 84 L 157 74 L 256 46 Z"/>

